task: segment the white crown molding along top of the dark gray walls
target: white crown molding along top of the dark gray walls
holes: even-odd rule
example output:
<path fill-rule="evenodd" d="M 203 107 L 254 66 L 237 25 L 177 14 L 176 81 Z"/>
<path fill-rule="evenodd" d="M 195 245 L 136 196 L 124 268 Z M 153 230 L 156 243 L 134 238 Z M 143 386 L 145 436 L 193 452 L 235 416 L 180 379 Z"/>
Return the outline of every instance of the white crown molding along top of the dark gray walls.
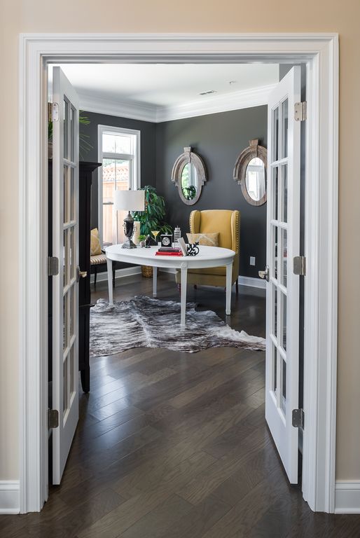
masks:
<path fill-rule="evenodd" d="M 117 101 L 78 94 L 80 107 L 88 112 L 132 118 L 133 120 L 162 123 L 182 118 L 194 118 L 231 110 L 247 109 L 251 106 L 261 106 L 268 103 L 268 95 L 275 84 L 240 90 L 226 95 L 211 95 L 201 102 L 194 101 L 175 106 L 156 106 L 134 101 Z"/>

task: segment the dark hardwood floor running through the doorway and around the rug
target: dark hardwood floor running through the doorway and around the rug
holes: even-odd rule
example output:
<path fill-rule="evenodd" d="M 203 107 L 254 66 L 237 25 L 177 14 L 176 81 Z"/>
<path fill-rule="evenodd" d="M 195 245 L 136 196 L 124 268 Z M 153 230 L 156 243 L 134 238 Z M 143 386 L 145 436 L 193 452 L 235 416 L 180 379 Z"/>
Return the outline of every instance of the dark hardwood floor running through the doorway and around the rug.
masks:
<path fill-rule="evenodd" d="M 151 290 L 133 277 L 115 298 Z M 171 275 L 160 273 L 158 297 L 178 298 Z M 222 289 L 188 299 L 225 318 Z M 263 293 L 240 287 L 228 322 L 264 336 Z M 62 485 L 41 513 L 2 516 L 1 537 L 359 537 L 360 516 L 314 514 L 289 485 L 265 425 L 264 369 L 262 352 L 236 348 L 92 359 Z"/>

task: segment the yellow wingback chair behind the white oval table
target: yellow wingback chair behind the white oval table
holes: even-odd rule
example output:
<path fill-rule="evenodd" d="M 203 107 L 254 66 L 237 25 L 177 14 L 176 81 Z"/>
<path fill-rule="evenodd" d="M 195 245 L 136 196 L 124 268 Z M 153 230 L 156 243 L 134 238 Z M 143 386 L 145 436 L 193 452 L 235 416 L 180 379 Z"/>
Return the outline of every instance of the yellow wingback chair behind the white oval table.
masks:
<path fill-rule="evenodd" d="M 236 252 L 233 261 L 233 277 L 231 284 L 236 283 L 239 277 L 240 255 L 240 212 L 228 209 L 207 209 L 206 211 L 192 211 L 190 214 L 191 233 L 217 233 L 219 232 L 219 247 L 232 249 Z M 181 272 L 176 271 L 176 283 L 181 284 Z M 189 269 L 188 283 L 203 286 L 226 286 L 226 268 L 212 267 L 207 269 Z"/>

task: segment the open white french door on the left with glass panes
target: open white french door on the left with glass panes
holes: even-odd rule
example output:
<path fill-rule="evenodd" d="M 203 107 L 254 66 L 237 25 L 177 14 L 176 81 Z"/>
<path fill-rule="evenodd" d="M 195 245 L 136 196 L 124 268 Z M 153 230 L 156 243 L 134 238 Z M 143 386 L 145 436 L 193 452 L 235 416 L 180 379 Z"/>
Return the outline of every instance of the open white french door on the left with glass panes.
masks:
<path fill-rule="evenodd" d="M 78 422 L 78 96 L 53 69 L 53 483 L 60 484 Z"/>

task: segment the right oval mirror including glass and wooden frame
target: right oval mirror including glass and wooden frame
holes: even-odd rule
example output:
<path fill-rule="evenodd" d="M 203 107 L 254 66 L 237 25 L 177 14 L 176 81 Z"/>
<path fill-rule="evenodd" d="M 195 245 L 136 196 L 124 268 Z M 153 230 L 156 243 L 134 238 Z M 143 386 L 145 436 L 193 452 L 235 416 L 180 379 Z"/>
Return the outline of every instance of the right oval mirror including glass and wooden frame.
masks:
<path fill-rule="evenodd" d="M 266 202 L 268 150 L 258 145 L 258 139 L 249 140 L 249 146 L 238 156 L 233 177 L 242 189 L 245 200 L 251 205 Z"/>

